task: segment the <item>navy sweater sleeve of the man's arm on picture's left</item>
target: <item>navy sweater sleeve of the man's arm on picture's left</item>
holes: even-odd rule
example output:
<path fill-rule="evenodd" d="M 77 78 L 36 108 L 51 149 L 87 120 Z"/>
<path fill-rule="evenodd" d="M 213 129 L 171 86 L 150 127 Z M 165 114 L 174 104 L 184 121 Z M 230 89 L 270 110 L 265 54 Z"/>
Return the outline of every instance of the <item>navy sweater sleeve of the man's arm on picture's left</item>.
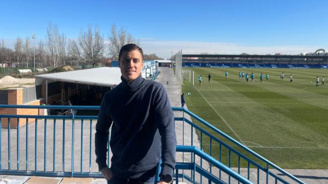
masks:
<path fill-rule="evenodd" d="M 106 104 L 106 96 L 104 96 L 99 109 L 99 115 L 96 123 L 96 132 L 94 138 L 96 163 L 98 164 L 99 171 L 105 167 L 108 167 L 106 164 L 107 151 L 108 151 L 107 145 L 108 145 L 109 127 L 112 124 L 112 120 L 109 117 L 107 110 L 108 110 L 108 106 Z"/>

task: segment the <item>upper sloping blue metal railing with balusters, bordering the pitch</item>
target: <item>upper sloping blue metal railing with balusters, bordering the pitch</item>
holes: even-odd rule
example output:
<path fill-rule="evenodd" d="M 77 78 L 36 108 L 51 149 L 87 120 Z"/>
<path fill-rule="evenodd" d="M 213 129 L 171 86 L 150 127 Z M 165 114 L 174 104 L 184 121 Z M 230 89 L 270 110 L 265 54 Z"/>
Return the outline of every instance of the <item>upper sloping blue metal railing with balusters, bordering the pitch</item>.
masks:
<path fill-rule="evenodd" d="M 251 149 L 249 149 L 242 143 L 236 141 L 234 138 L 232 138 L 229 135 L 227 135 L 226 133 L 222 132 L 221 130 L 219 130 L 218 128 L 213 126 L 212 124 L 204 121 L 203 119 L 201 119 L 197 115 L 193 114 L 192 112 L 188 111 L 187 109 L 173 107 L 172 110 L 183 112 L 183 117 L 175 118 L 175 121 L 182 121 L 182 123 L 187 123 L 191 126 L 190 140 L 193 140 L 193 133 L 192 133 L 193 128 L 195 128 L 195 130 L 198 131 L 199 143 L 200 143 L 199 149 L 200 150 L 204 151 L 204 147 L 206 147 L 206 146 L 204 146 L 203 140 L 204 140 L 204 136 L 207 136 L 207 139 L 209 141 L 209 146 L 207 147 L 207 149 L 208 149 L 207 152 L 209 152 L 209 155 L 212 156 L 213 144 L 214 143 L 218 144 L 216 146 L 216 148 L 218 148 L 217 151 L 218 151 L 218 157 L 219 157 L 218 161 L 219 162 L 225 162 L 229 168 L 232 167 L 231 166 L 232 163 L 237 163 L 237 165 L 235 167 L 237 168 L 238 173 L 241 174 L 241 168 L 242 168 L 241 164 L 242 164 L 242 161 L 244 160 L 244 162 L 247 163 L 247 175 L 246 175 L 247 180 L 250 180 L 250 170 L 252 169 L 251 168 L 251 166 L 252 166 L 257 171 L 256 178 L 254 178 L 252 180 L 252 182 L 254 182 L 254 183 L 258 183 L 258 184 L 259 183 L 269 183 L 269 180 L 270 181 L 273 180 L 274 183 L 277 183 L 277 182 L 281 182 L 283 184 L 289 183 L 289 182 L 285 181 L 284 179 L 282 179 L 281 177 L 274 174 L 273 172 L 271 172 L 270 171 L 270 169 L 271 169 L 271 170 L 276 170 L 276 171 L 280 172 L 280 174 L 286 176 L 286 178 L 288 178 L 289 181 L 292 181 L 294 183 L 304 184 L 304 182 L 300 181 L 293 175 L 287 173 L 280 167 L 276 166 L 272 162 L 263 158 L 256 152 L 252 151 Z M 196 121 L 196 122 L 192 122 L 192 121 L 186 119 L 185 114 L 192 117 L 193 121 Z M 204 126 L 206 128 L 204 128 Z M 183 131 L 185 129 L 184 127 L 185 126 L 183 125 Z M 212 131 L 212 133 L 210 133 L 209 131 Z M 185 136 L 185 133 L 183 133 L 183 136 Z M 226 141 L 224 142 L 223 139 Z M 184 140 L 184 137 L 183 137 L 183 140 Z M 185 145 L 185 144 L 183 143 L 183 145 Z M 193 141 L 191 141 L 190 145 L 194 146 L 195 144 L 193 143 Z M 224 149 L 226 149 L 225 154 L 223 153 Z M 228 161 L 224 160 L 223 157 L 226 157 L 226 159 Z M 236 158 L 236 160 L 233 161 L 233 158 Z M 260 174 L 260 171 L 264 172 L 265 181 L 260 180 L 262 178 L 261 176 L 263 176 Z M 212 173 L 211 166 L 210 166 L 210 173 Z M 221 179 L 221 170 L 219 170 L 219 179 Z M 230 183 L 230 177 L 229 177 L 228 183 Z"/>

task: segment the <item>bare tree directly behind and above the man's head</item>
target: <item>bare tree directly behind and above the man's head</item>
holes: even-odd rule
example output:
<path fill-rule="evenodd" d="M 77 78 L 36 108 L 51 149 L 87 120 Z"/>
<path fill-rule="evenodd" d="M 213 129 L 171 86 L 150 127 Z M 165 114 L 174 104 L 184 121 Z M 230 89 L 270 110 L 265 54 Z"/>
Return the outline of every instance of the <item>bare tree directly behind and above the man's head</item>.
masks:
<path fill-rule="evenodd" d="M 115 60 L 118 60 L 120 49 L 126 44 L 140 45 L 139 40 L 133 38 L 123 27 L 121 27 L 120 31 L 117 31 L 115 24 L 113 24 L 109 33 L 109 54 Z"/>

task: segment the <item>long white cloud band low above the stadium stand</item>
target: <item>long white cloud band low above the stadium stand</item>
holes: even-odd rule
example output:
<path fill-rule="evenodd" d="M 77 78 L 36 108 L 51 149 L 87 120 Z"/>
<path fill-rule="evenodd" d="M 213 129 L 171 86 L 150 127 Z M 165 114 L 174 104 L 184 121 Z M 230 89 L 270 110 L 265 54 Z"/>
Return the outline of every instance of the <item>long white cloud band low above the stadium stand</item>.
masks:
<path fill-rule="evenodd" d="M 216 42 L 193 42 L 193 41 L 169 41 L 141 39 L 141 47 L 145 54 L 155 53 L 159 57 L 169 58 L 171 51 L 173 55 L 182 49 L 182 54 L 300 54 L 304 52 L 315 52 L 317 49 L 310 46 L 245 46 L 233 43 Z"/>

